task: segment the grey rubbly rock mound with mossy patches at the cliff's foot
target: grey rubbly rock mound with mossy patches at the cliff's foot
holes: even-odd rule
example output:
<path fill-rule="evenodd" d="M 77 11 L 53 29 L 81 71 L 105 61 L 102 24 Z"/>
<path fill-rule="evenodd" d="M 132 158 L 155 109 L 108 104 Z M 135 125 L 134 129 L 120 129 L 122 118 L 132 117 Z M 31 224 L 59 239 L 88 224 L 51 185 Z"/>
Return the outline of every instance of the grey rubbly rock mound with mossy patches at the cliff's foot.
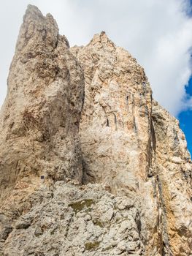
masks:
<path fill-rule="evenodd" d="M 58 181 L 28 198 L 32 208 L 14 223 L 3 253 L 18 255 L 140 255 L 140 217 L 134 201 L 101 185 Z"/>

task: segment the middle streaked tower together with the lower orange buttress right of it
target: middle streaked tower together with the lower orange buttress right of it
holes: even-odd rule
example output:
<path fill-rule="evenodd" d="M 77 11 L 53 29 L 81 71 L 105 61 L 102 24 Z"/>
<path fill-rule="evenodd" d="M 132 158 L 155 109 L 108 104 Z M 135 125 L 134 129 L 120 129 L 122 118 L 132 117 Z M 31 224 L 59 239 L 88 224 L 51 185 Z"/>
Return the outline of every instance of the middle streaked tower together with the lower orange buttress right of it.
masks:
<path fill-rule="evenodd" d="M 145 255 L 190 255 L 191 159 L 178 122 L 153 104 L 142 67 L 104 32 L 71 51 L 85 73 L 84 182 L 137 198 Z"/>

